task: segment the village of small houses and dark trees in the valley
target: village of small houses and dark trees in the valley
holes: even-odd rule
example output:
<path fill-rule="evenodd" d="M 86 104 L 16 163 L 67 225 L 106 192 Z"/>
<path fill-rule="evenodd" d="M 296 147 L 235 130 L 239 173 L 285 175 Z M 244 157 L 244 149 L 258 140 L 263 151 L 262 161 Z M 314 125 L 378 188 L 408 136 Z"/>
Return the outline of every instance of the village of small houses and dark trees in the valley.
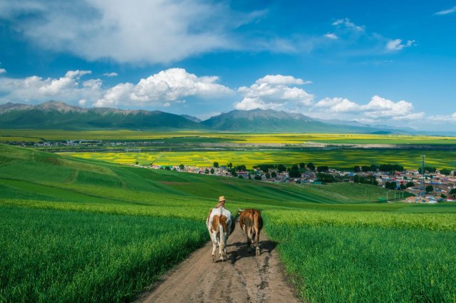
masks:
<path fill-rule="evenodd" d="M 373 165 L 377 168 L 375 171 L 367 169 L 363 171 L 363 168 L 367 168 L 366 166 L 355 166 L 353 170 L 349 171 L 336 170 L 327 166 L 314 167 L 312 163 L 308 165 L 302 164 L 304 163 L 293 165 L 291 168 L 285 168 L 284 165 L 259 165 L 252 168 L 252 170 L 247 170 L 245 165 L 234 166 L 232 163 L 227 165 L 214 163 L 214 165 L 207 167 L 182 164 L 145 166 L 138 163 L 135 166 L 156 170 L 175 170 L 185 173 L 244 178 L 269 183 L 296 183 L 303 185 L 323 185 L 333 182 L 367 183 L 390 190 L 398 190 L 397 197 L 395 192 L 394 195 L 386 197 L 379 202 L 398 200 L 401 197 L 401 192 L 411 194 L 408 197 L 404 197 L 402 202 L 432 204 L 456 201 L 456 171 L 426 168 L 423 175 L 419 170 L 380 170 L 379 168 L 382 168 L 382 165 L 379 167 Z M 400 165 L 386 166 L 387 168 L 400 168 Z M 431 170 L 431 172 L 428 170 Z M 422 183 L 424 183 L 424 188 Z"/>

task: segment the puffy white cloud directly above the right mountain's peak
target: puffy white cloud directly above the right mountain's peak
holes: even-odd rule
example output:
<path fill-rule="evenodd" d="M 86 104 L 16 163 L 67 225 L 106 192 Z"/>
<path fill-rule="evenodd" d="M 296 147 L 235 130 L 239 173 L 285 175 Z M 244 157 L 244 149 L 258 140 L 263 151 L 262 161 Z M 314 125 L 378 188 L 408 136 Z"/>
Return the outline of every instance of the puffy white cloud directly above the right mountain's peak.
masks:
<path fill-rule="evenodd" d="M 301 78 L 282 75 L 267 75 L 259 78 L 252 86 L 242 86 L 238 92 L 243 99 L 234 103 L 240 110 L 254 108 L 294 111 L 296 108 L 311 106 L 314 95 L 307 93 L 302 88 L 291 85 L 310 83 Z"/>

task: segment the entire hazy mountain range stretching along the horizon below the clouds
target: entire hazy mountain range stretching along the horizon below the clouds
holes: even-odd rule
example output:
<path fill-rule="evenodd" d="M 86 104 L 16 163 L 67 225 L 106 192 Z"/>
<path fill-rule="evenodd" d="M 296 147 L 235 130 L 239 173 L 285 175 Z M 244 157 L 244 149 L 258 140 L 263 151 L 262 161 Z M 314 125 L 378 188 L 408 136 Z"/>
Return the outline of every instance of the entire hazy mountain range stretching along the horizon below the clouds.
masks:
<path fill-rule="evenodd" d="M 252 133 L 404 133 L 351 121 L 319 120 L 300 113 L 254 109 L 230 111 L 207 120 L 162 111 L 81 108 L 49 101 L 0 105 L 0 128 L 216 130 Z"/>

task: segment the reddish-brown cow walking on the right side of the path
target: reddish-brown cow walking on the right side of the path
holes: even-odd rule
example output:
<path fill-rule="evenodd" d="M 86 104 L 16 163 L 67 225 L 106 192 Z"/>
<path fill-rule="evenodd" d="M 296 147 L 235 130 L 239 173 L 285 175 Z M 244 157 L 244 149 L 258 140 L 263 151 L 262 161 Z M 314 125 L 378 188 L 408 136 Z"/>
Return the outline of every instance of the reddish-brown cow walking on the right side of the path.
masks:
<path fill-rule="evenodd" d="M 259 210 L 247 209 L 238 210 L 239 226 L 244 235 L 247 236 L 247 251 L 252 251 L 252 245 L 255 247 L 257 256 L 259 256 L 259 232 L 263 228 L 263 218 Z"/>

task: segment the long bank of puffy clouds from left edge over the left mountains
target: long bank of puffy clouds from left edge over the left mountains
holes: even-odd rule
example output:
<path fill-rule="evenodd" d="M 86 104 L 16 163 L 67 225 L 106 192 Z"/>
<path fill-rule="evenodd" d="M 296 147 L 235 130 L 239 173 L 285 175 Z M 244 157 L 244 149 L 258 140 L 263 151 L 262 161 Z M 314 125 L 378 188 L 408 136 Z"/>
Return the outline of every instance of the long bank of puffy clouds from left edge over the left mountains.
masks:
<path fill-rule="evenodd" d="M 0 102 L 38 103 L 50 98 L 81 106 L 171 106 L 183 98 L 219 97 L 232 93 L 216 76 L 196 76 L 170 68 L 140 79 L 137 84 L 118 83 L 104 88 L 99 78 L 82 79 L 91 71 L 68 71 L 61 78 L 0 78 Z"/>

